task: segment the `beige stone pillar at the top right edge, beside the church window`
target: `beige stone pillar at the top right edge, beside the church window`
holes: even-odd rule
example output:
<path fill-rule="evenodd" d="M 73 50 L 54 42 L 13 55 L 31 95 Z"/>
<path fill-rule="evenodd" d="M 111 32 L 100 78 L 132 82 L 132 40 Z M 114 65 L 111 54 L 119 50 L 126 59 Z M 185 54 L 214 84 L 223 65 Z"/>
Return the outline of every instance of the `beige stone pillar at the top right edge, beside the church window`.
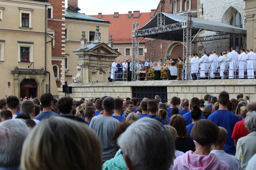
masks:
<path fill-rule="evenodd" d="M 247 49 L 256 47 L 256 0 L 245 1 L 245 18 L 247 20 Z"/>

